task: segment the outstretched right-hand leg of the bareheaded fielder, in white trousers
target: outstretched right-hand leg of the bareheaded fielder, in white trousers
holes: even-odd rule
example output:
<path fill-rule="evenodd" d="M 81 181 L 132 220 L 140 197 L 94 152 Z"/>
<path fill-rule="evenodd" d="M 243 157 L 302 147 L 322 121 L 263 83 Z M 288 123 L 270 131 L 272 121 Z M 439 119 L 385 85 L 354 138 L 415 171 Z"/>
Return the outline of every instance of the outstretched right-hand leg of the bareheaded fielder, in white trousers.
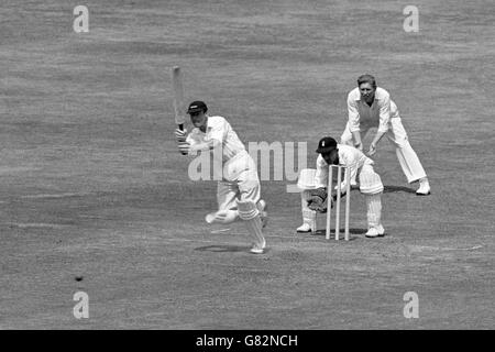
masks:
<path fill-rule="evenodd" d="M 427 196 L 430 194 L 430 185 L 428 182 L 427 174 L 419 161 L 418 155 L 413 150 L 407 138 L 406 130 L 404 129 L 400 117 L 391 119 L 391 129 L 388 129 L 387 138 L 395 147 L 395 153 L 397 160 L 399 161 L 400 167 L 404 175 L 407 177 L 407 182 L 414 183 L 419 182 L 419 189 L 416 191 L 417 195 Z"/>

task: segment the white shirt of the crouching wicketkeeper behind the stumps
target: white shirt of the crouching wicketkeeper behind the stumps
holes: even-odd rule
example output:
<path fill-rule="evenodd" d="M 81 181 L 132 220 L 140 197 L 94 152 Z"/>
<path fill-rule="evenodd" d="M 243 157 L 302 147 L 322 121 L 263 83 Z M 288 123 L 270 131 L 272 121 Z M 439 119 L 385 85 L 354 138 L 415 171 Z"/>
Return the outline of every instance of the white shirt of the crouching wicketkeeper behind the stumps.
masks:
<path fill-rule="evenodd" d="M 364 164 L 373 165 L 373 161 L 364 155 L 360 150 L 345 144 L 337 144 L 339 148 L 339 165 L 348 166 L 351 172 L 350 179 L 355 179 L 358 170 L 363 167 Z M 317 158 L 317 172 L 315 175 L 315 184 L 317 188 L 328 187 L 328 164 L 324 158 L 318 155 Z M 342 179 L 342 182 L 345 178 Z"/>

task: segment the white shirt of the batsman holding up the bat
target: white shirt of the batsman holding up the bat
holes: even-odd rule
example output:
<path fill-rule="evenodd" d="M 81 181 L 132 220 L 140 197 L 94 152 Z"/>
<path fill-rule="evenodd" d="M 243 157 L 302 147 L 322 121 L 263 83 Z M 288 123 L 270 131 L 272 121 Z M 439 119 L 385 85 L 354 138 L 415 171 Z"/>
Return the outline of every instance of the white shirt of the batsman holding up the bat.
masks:
<path fill-rule="evenodd" d="M 222 117 L 207 117 L 207 131 L 206 133 L 194 128 L 186 139 L 190 145 L 206 143 L 211 140 L 217 140 L 221 143 L 221 158 L 222 164 L 231 160 L 234 155 L 245 151 L 244 144 L 239 139 L 238 134 L 229 122 Z M 217 156 L 213 152 L 213 157 Z"/>

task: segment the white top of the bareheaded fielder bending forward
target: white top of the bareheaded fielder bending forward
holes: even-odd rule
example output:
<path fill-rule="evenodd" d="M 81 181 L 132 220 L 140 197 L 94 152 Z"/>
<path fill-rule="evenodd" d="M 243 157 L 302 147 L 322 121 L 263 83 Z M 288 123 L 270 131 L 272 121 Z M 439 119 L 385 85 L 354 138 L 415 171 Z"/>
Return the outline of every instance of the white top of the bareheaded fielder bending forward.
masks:
<path fill-rule="evenodd" d="M 351 132 L 370 128 L 378 128 L 380 132 L 387 132 L 391 118 L 398 117 L 398 110 L 391 95 L 383 88 L 376 87 L 375 100 L 370 107 L 361 100 L 359 88 L 354 88 L 348 95 L 349 129 Z"/>

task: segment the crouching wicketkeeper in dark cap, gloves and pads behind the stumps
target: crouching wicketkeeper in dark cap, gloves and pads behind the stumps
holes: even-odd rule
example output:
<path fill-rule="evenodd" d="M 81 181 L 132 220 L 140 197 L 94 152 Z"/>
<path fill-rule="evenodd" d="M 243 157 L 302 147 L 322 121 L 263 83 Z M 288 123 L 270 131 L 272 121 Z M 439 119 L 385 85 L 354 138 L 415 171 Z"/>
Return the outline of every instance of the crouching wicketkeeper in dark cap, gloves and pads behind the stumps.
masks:
<path fill-rule="evenodd" d="M 331 190 L 327 189 L 329 165 L 342 165 L 349 167 L 345 172 L 350 172 L 350 179 L 359 177 L 360 191 L 365 196 L 367 216 L 365 235 L 367 238 L 383 237 L 385 233 L 382 226 L 383 184 L 380 175 L 373 169 L 374 162 L 353 146 L 337 144 L 331 136 L 321 139 L 316 152 L 319 153 L 316 170 L 302 169 L 297 182 L 301 190 L 302 210 L 302 226 L 297 229 L 297 232 L 315 232 L 317 212 L 330 211 L 327 209 L 327 205 L 331 207 Z M 341 189 L 345 191 L 345 182 L 342 182 Z"/>

